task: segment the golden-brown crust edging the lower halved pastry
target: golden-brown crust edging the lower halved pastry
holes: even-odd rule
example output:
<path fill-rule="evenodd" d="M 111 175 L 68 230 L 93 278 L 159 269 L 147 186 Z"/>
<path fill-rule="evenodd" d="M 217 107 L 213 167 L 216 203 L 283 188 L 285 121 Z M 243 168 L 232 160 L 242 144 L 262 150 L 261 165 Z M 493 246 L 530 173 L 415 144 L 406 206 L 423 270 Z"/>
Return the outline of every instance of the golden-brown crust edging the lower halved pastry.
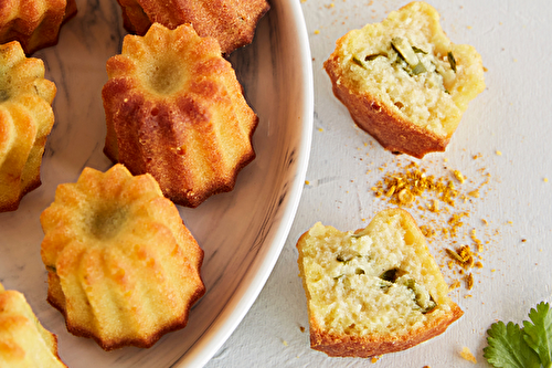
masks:
<path fill-rule="evenodd" d="M 391 218 L 394 215 L 399 215 L 401 219 L 401 228 L 405 231 L 405 236 L 412 239 L 410 240 L 410 244 L 417 245 L 407 245 L 407 246 L 416 246 L 418 249 L 417 253 L 428 253 L 427 244 L 424 235 L 421 230 L 417 228 L 415 220 L 412 215 L 402 210 L 402 209 L 388 209 L 376 214 L 376 218 Z M 364 234 L 370 235 L 372 229 L 372 222 L 365 229 L 358 229 L 355 233 L 363 232 Z M 426 341 L 435 336 L 443 334 L 447 327 L 453 324 L 455 320 L 460 318 L 464 315 L 464 312 L 460 307 L 454 303 L 450 298 L 446 296 L 446 292 L 448 287 L 444 282 L 440 274 L 435 275 L 437 278 L 440 278 L 437 285 L 438 290 L 435 291 L 435 302 L 437 303 L 437 307 L 433 311 L 429 311 L 424 318 L 424 323 L 421 327 L 408 329 L 406 333 L 402 334 L 382 334 L 382 333 L 372 333 L 364 336 L 355 335 L 354 333 L 350 334 L 337 334 L 330 332 L 327 327 L 322 327 L 320 322 L 315 316 L 315 311 L 312 311 L 312 306 L 310 301 L 312 295 L 309 292 L 309 285 L 307 284 L 306 270 L 304 259 L 306 256 L 305 246 L 307 246 L 306 242 L 311 236 L 310 230 L 306 231 L 297 241 L 297 250 L 299 253 L 298 256 L 298 266 L 299 266 L 299 276 L 302 281 L 302 286 L 306 293 L 307 303 L 308 303 L 308 312 L 309 312 L 309 329 L 310 329 L 310 347 L 315 350 L 319 350 L 326 353 L 330 357 L 361 357 L 369 358 L 374 356 L 380 356 L 389 353 L 396 353 L 401 350 L 405 350 L 415 345 L 418 345 L 423 341 Z M 336 236 L 335 234 L 332 236 Z M 418 253 L 418 254 L 420 254 Z M 428 272 L 437 272 L 438 267 L 436 266 L 434 261 L 431 261 L 431 265 L 427 264 L 427 260 L 424 261 L 424 267 L 429 266 L 427 269 Z M 435 269 L 431 271 L 429 269 Z M 433 318 L 432 313 L 439 309 L 439 313 L 436 314 L 437 317 Z M 443 313 L 443 311 L 446 311 Z M 326 320 L 326 323 L 328 323 Z"/>

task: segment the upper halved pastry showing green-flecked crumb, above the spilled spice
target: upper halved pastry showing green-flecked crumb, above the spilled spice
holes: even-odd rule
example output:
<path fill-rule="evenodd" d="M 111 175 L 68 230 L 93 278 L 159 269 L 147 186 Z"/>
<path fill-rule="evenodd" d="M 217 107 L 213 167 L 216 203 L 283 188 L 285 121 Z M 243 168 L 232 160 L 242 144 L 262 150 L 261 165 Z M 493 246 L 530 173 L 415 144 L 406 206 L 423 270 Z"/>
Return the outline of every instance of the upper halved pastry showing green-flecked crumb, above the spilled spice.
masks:
<path fill-rule="evenodd" d="M 468 103 L 485 90 L 481 56 L 452 43 L 425 2 L 350 31 L 323 65 L 360 128 L 385 149 L 417 158 L 445 150 Z"/>

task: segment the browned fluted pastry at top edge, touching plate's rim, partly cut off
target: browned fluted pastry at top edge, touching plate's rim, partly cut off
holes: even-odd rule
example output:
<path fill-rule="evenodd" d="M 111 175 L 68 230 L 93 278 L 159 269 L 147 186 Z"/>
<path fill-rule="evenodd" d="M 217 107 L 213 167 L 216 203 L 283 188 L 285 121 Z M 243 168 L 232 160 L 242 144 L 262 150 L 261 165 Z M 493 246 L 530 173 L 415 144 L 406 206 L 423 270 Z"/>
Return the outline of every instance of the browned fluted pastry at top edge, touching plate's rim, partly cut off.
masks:
<path fill-rule="evenodd" d="M 190 23 L 201 36 L 215 38 L 222 53 L 250 44 L 258 20 L 270 8 L 266 0 L 117 0 L 127 31 L 146 34 L 152 23 L 171 30 Z"/>

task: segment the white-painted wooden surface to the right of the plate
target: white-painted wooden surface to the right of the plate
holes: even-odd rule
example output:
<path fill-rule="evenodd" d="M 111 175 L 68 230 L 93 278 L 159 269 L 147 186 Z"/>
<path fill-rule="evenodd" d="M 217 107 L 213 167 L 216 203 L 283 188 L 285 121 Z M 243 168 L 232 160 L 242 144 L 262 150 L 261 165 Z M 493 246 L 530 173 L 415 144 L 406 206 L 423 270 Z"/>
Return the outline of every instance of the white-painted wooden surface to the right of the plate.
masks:
<path fill-rule="evenodd" d="M 297 0 L 299 1 L 299 0 Z M 305 293 L 298 277 L 295 243 L 316 221 L 341 230 L 364 227 L 386 203 L 370 188 L 396 168 L 396 158 L 358 129 L 333 97 L 322 70 L 335 41 L 347 31 L 379 22 L 406 1 L 306 0 L 305 14 L 315 81 L 315 130 L 299 209 L 280 257 L 263 292 L 241 325 L 206 365 L 215 367 L 361 367 L 369 361 L 328 358 L 311 350 Z M 442 336 L 410 350 L 382 357 L 374 367 L 469 367 L 459 357 L 468 347 L 477 366 L 486 330 L 497 319 L 520 323 L 529 308 L 550 301 L 552 272 L 552 85 L 550 55 L 552 6 L 540 1 L 433 0 L 442 25 L 455 43 L 474 45 L 482 55 L 487 88 L 471 102 L 445 154 L 416 160 L 445 176 L 458 169 L 476 187 L 490 175 L 479 199 L 466 204 L 458 244 L 473 244 L 475 229 L 488 242 L 476 284 L 450 293 L 465 315 Z M 477 156 L 477 159 L 474 159 Z M 383 171 L 378 168 L 388 165 Z M 445 169 L 445 166 L 447 169 Z M 550 180 L 548 180 L 550 179 Z M 424 211 L 408 209 L 418 220 Z M 486 220 L 486 225 L 482 220 Z M 522 240 L 526 240 L 524 242 Z M 437 260 L 453 239 L 431 242 Z M 442 262 L 442 261 L 439 261 Z M 444 267 L 447 281 L 457 278 Z M 301 332 L 300 327 L 306 330 Z"/>

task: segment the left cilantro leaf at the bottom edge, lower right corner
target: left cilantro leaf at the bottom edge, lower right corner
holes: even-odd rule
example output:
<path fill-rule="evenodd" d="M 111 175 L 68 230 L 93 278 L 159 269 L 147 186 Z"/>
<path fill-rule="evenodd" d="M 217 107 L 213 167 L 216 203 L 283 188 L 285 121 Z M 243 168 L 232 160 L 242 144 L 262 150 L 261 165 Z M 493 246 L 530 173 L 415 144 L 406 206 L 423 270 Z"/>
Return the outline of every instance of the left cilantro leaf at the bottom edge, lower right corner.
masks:
<path fill-rule="evenodd" d="M 497 322 L 487 330 L 489 346 L 484 357 L 489 364 L 500 368 L 539 368 L 539 356 L 527 344 L 523 330 L 511 322 Z"/>

